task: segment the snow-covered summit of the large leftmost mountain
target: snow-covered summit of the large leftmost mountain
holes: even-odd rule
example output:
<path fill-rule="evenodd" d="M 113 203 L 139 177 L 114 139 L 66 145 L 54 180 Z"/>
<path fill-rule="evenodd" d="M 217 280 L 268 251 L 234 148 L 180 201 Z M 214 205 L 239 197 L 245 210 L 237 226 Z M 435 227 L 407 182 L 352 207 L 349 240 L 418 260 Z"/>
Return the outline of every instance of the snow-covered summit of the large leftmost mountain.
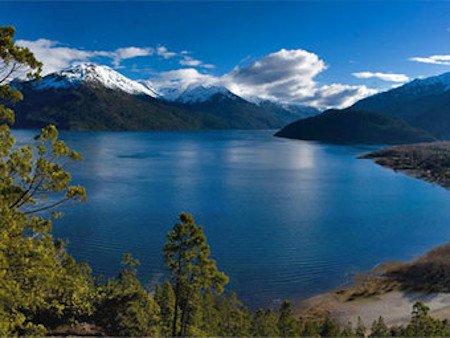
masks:
<path fill-rule="evenodd" d="M 38 90 L 73 88 L 80 83 L 100 85 L 132 95 L 158 96 L 149 85 L 133 81 L 108 66 L 94 63 L 79 64 L 47 75 L 41 81 L 35 82 L 35 88 Z"/>

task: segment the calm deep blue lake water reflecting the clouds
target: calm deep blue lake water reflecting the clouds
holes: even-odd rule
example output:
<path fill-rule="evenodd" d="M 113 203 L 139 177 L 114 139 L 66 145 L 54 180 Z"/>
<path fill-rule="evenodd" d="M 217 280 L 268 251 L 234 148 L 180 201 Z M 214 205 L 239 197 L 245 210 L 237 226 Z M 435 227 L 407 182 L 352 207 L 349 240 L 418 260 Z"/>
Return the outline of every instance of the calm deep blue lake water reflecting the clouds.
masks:
<path fill-rule="evenodd" d="M 17 131 L 20 142 L 31 131 Z M 181 212 L 204 227 L 229 289 L 252 307 L 334 288 L 354 273 L 450 241 L 450 192 L 356 156 L 370 148 L 279 139 L 273 131 L 62 133 L 89 200 L 56 237 L 96 273 L 141 261 L 149 286 Z"/>

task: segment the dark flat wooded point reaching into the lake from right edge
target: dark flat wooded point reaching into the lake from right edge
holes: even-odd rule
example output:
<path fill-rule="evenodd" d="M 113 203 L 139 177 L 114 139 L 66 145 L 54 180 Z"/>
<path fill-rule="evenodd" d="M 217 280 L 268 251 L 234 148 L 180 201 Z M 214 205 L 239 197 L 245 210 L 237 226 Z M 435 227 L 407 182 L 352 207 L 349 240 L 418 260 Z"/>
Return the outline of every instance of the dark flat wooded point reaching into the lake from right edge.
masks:
<path fill-rule="evenodd" d="M 360 158 L 450 188 L 450 141 L 392 146 Z"/>

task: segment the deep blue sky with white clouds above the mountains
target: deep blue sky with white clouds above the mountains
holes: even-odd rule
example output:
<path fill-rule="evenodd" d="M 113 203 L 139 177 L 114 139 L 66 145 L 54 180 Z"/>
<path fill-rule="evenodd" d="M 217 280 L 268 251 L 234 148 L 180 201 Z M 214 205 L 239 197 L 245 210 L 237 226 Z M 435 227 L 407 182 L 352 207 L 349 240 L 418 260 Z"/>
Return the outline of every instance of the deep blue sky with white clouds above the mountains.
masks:
<path fill-rule="evenodd" d="M 450 70 L 450 2 L 0 2 L 44 73 L 79 62 L 155 88 L 342 107 Z"/>

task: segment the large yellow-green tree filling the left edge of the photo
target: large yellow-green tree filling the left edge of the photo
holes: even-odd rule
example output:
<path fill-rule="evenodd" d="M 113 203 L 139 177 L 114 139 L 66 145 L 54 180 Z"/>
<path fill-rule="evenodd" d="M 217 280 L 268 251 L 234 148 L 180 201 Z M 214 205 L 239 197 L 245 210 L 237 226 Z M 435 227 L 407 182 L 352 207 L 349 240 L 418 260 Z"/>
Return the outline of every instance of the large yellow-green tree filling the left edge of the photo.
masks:
<path fill-rule="evenodd" d="M 38 78 L 42 64 L 14 42 L 14 28 L 0 27 L 0 335 L 42 334 L 46 326 L 92 313 L 92 280 L 55 244 L 49 212 L 68 200 L 84 201 L 66 165 L 81 159 L 58 140 L 54 126 L 35 143 L 18 147 L 10 125 L 22 99 L 9 81 Z"/>

